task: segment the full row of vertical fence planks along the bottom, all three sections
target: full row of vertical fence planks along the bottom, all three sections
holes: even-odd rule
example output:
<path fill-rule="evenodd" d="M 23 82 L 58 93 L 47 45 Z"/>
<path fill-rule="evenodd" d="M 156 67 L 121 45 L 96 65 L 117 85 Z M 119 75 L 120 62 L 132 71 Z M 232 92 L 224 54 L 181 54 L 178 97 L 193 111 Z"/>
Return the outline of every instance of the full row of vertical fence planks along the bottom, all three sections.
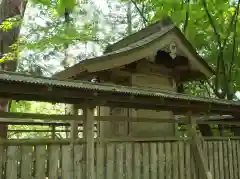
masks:
<path fill-rule="evenodd" d="M 200 179 L 190 145 L 173 142 L 95 144 L 96 179 Z M 204 142 L 213 179 L 240 178 L 240 140 Z M 1 179 L 83 179 L 84 144 L 0 146 Z"/>

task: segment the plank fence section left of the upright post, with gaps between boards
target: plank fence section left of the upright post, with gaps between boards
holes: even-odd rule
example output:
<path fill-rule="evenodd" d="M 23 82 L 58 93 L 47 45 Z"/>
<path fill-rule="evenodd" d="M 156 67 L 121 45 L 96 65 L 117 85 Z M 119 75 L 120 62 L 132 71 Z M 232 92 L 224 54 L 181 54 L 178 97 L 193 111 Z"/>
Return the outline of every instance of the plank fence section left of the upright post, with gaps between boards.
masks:
<path fill-rule="evenodd" d="M 1 179 L 80 179 L 84 145 L 0 146 Z"/>

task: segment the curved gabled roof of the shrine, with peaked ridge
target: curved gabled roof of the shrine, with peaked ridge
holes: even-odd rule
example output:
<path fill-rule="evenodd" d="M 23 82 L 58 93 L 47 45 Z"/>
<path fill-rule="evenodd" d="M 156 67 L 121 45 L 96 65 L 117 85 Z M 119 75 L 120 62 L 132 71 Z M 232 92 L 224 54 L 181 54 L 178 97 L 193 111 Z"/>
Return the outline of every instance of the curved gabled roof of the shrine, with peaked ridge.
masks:
<path fill-rule="evenodd" d="M 71 78 L 82 72 L 97 72 L 126 65 L 140 60 L 153 51 L 158 51 L 174 41 L 195 63 L 203 76 L 213 75 L 211 67 L 198 55 L 191 43 L 170 18 L 164 18 L 107 47 L 102 56 L 85 59 L 80 63 L 57 73 L 58 78 Z"/>

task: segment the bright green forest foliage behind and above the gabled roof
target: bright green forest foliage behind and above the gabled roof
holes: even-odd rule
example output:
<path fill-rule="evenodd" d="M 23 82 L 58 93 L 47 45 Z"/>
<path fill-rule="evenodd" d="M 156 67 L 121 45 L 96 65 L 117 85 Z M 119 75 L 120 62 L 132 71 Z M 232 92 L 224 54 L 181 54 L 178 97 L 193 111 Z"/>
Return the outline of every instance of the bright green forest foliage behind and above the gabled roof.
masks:
<path fill-rule="evenodd" d="M 81 25 L 76 23 L 76 18 L 82 18 L 89 13 L 84 9 L 84 6 L 90 1 L 31 0 L 31 3 L 41 7 L 39 10 L 41 10 L 42 14 L 45 14 L 42 15 L 42 18 L 45 18 L 46 25 L 29 28 L 30 34 L 32 36 L 35 34 L 37 37 L 33 40 L 29 38 L 29 35 L 21 36 L 18 43 L 11 47 L 13 51 L 17 50 L 19 52 L 23 49 L 31 49 L 36 52 L 50 51 L 50 55 L 48 54 L 48 57 L 46 57 L 49 58 L 52 54 L 56 54 L 56 51 L 61 51 L 65 49 L 66 45 L 71 44 L 92 41 L 97 44 L 104 44 L 102 45 L 103 49 L 108 44 L 109 38 L 111 38 L 104 34 L 106 29 L 100 27 L 102 25 L 100 17 L 101 15 L 112 15 L 104 14 L 97 7 L 95 7 L 96 13 L 92 19 L 83 22 Z M 205 86 L 206 90 L 207 87 L 210 92 L 213 92 L 219 98 L 228 98 L 230 100 L 234 98 L 235 92 L 240 90 L 239 60 L 237 60 L 239 58 L 238 44 L 240 39 L 238 22 L 240 1 L 123 0 L 117 3 L 119 3 L 119 6 L 125 7 L 127 3 L 132 4 L 131 18 L 133 20 L 131 23 L 135 23 L 140 28 L 161 19 L 163 16 L 170 16 L 203 58 L 216 71 L 215 78 L 208 81 L 207 84 L 204 83 L 202 88 Z M 133 15 L 133 12 L 137 14 Z M 66 13 L 70 14 L 68 23 L 65 21 Z M 115 12 L 115 14 L 117 13 Z M 129 25 L 126 22 L 127 13 L 129 12 L 126 12 L 123 17 L 117 17 L 116 15 L 115 19 L 117 18 L 118 24 L 111 21 L 109 22 L 110 25 L 115 28 L 124 23 Z M 8 30 L 19 25 L 19 22 L 19 17 L 14 17 L 4 21 L 0 27 Z M 131 24 L 131 26 L 134 26 L 134 24 Z M 138 29 L 133 29 L 133 32 Z M 112 33 L 112 36 L 114 35 Z M 125 30 L 125 34 L 123 32 L 121 35 L 126 36 L 127 31 Z M 112 39 L 110 42 L 118 39 Z M 11 57 L 12 55 L 9 54 L 2 60 Z"/>

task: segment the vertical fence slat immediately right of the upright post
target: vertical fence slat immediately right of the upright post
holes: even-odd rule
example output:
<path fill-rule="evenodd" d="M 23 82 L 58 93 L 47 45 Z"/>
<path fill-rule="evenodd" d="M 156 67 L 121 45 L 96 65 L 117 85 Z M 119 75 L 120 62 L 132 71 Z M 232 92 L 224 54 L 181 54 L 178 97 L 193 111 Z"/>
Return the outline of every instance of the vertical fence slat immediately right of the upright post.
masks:
<path fill-rule="evenodd" d="M 104 144 L 99 142 L 97 144 L 97 176 L 96 179 L 105 179 L 104 176 Z"/>

